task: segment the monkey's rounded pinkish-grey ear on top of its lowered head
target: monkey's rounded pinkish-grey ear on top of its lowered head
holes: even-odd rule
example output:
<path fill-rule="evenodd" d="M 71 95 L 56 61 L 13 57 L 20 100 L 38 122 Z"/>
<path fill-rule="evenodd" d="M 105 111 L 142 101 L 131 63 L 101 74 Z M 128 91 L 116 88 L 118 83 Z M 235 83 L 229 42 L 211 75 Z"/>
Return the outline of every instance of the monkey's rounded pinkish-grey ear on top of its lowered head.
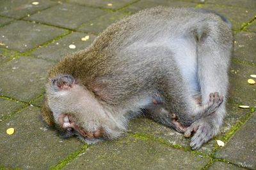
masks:
<path fill-rule="evenodd" d="M 54 90 L 58 91 L 58 90 L 67 90 L 67 89 L 70 89 L 72 88 L 72 86 L 74 85 L 75 83 L 75 79 L 73 76 L 71 75 L 58 75 L 54 78 L 52 78 L 51 80 L 51 85 L 53 87 Z"/>

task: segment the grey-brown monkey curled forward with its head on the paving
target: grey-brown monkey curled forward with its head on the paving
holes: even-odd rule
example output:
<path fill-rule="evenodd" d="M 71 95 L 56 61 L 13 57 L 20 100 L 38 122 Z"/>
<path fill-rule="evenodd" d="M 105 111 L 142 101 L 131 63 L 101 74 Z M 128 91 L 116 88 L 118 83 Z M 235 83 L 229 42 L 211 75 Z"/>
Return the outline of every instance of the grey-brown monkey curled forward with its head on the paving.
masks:
<path fill-rule="evenodd" d="M 232 31 L 223 18 L 159 6 L 110 25 L 49 71 L 45 122 L 95 143 L 120 137 L 145 111 L 200 148 L 226 113 Z"/>

